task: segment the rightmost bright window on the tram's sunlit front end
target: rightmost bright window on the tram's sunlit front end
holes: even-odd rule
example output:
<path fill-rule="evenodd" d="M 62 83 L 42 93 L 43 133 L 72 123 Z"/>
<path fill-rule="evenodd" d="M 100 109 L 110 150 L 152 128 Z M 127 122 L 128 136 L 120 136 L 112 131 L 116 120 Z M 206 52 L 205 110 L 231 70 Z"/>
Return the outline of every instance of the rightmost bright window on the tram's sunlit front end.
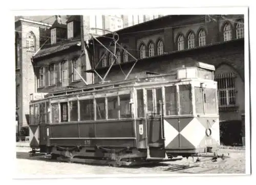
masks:
<path fill-rule="evenodd" d="M 217 113 L 216 107 L 216 89 L 205 88 L 205 113 Z"/>

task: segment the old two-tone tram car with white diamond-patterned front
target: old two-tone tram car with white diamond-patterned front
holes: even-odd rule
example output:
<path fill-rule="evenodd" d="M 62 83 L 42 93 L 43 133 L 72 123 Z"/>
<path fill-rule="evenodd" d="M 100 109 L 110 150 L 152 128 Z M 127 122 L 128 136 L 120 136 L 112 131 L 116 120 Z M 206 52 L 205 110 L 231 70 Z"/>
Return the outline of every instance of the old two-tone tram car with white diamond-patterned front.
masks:
<path fill-rule="evenodd" d="M 220 145 L 214 72 L 198 62 L 31 100 L 32 152 L 119 165 L 213 152 Z"/>

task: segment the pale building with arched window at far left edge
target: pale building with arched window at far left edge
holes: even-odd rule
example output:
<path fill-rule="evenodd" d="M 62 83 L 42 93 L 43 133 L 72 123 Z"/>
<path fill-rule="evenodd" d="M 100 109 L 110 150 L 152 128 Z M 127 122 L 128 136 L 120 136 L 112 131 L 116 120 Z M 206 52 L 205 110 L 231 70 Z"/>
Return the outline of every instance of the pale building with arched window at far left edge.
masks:
<path fill-rule="evenodd" d="M 15 84 L 17 131 L 28 127 L 30 94 L 35 92 L 34 69 L 31 57 L 45 42 L 51 25 L 16 17 L 15 19 Z"/>

